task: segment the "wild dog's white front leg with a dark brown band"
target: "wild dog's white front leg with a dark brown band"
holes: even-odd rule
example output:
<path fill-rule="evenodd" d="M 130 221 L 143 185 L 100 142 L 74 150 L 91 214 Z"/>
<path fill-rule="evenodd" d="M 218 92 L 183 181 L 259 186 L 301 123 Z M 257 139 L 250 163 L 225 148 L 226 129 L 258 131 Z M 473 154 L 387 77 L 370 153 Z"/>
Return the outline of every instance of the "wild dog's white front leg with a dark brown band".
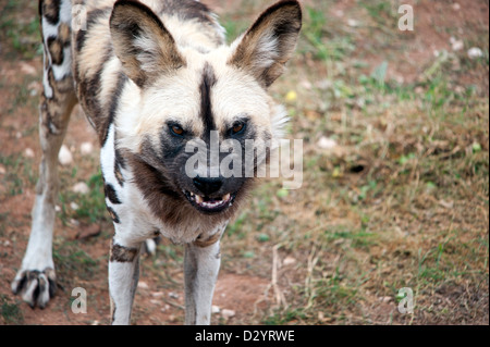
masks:
<path fill-rule="evenodd" d="M 128 325 L 139 278 L 140 245 L 123 246 L 113 240 L 109 260 L 109 294 L 112 324 Z"/>

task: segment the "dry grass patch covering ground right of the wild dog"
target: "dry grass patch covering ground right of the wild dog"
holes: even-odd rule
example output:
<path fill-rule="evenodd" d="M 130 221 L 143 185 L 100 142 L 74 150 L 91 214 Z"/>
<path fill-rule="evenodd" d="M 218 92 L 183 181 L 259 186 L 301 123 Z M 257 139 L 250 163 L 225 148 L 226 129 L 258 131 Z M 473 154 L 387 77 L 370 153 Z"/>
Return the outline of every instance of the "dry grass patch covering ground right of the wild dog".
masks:
<path fill-rule="evenodd" d="M 271 273 L 267 323 L 488 323 L 488 22 L 465 33 L 480 60 L 449 48 L 404 72 L 406 47 L 436 33 L 420 23 L 407 38 L 392 27 L 394 3 L 369 7 L 307 2 L 302 54 L 274 89 L 298 95 L 289 110 L 291 138 L 305 140 L 304 185 L 257 189 L 243 236 L 224 246 L 253 261 L 225 267 Z M 414 314 L 397 310 L 402 287 Z"/>

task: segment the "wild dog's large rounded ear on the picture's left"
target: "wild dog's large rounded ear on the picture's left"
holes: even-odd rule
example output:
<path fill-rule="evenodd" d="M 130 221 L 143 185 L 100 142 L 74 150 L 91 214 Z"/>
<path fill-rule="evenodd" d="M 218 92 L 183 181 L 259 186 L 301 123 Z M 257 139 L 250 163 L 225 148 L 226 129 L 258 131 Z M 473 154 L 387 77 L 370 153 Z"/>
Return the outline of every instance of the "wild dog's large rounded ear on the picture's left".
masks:
<path fill-rule="evenodd" d="M 160 18 L 138 1 L 115 2 L 110 18 L 115 55 L 124 73 L 139 87 L 185 65 L 175 40 Z"/>

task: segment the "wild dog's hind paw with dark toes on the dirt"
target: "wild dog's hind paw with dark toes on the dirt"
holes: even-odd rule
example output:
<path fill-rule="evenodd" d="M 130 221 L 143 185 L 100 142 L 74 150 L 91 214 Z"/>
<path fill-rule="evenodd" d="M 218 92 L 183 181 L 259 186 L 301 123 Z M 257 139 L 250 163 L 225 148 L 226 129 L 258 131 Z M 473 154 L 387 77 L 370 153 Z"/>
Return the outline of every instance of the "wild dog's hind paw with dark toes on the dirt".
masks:
<path fill-rule="evenodd" d="M 30 308 L 37 306 L 44 309 L 57 292 L 56 280 L 54 270 L 51 268 L 44 271 L 21 270 L 12 282 L 12 292 L 15 295 L 20 294 Z"/>

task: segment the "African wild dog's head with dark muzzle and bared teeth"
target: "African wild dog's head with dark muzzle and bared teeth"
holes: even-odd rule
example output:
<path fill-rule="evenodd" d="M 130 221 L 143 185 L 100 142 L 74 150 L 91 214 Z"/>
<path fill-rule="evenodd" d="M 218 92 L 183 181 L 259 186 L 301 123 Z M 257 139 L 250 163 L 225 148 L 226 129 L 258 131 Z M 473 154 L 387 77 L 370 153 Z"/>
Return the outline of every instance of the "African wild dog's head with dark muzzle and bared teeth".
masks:
<path fill-rule="evenodd" d="M 122 100 L 132 111 L 117 120 L 118 146 L 134 157 L 135 179 L 155 210 L 173 201 L 231 213 L 254 178 L 247 141 L 278 138 L 284 125 L 267 89 L 293 54 L 301 25 L 298 2 L 280 1 L 230 47 L 207 49 L 175 39 L 175 28 L 172 35 L 139 2 L 115 3 L 113 48 L 139 96 Z M 254 171 L 259 160 L 252 163 Z"/>

